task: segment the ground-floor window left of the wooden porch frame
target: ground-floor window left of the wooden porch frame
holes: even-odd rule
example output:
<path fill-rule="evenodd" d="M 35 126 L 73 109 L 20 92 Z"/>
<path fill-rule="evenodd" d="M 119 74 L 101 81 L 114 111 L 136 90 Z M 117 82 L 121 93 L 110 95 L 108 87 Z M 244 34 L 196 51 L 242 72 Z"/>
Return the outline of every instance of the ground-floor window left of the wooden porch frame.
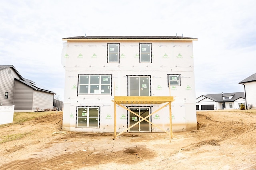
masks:
<path fill-rule="evenodd" d="M 100 106 L 77 107 L 76 127 L 100 127 Z"/>

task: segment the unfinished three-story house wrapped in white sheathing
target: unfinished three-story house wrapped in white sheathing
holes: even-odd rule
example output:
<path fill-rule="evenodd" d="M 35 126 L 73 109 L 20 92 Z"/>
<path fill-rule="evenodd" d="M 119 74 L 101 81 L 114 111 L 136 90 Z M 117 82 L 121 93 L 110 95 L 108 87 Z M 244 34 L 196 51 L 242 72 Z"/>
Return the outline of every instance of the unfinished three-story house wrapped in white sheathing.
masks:
<path fill-rule="evenodd" d="M 63 129 L 80 132 L 126 131 L 163 104 L 121 101 L 118 96 L 174 96 L 173 131 L 197 129 L 193 41 L 178 36 L 78 36 L 63 38 L 65 72 Z M 140 115 L 136 116 L 132 112 Z M 147 118 L 170 130 L 169 107 Z M 142 121 L 128 132 L 159 132 Z"/>

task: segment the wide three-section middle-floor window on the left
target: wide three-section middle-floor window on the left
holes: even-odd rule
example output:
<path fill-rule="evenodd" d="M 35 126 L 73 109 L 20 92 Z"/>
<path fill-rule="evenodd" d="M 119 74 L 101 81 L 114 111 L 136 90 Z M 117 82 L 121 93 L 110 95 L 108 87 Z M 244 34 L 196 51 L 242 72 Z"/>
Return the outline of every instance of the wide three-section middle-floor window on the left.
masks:
<path fill-rule="evenodd" d="M 111 94 L 112 74 L 80 74 L 78 78 L 78 94 Z"/>

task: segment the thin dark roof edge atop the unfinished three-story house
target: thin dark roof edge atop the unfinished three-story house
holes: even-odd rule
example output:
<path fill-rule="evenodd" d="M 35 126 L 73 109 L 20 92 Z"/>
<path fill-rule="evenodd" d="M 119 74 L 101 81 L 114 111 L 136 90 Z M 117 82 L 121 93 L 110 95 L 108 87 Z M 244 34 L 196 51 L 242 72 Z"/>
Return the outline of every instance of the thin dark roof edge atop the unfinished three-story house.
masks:
<path fill-rule="evenodd" d="M 180 36 L 77 36 L 63 39 L 191 39 L 197 38 L 180 37 Z"/>

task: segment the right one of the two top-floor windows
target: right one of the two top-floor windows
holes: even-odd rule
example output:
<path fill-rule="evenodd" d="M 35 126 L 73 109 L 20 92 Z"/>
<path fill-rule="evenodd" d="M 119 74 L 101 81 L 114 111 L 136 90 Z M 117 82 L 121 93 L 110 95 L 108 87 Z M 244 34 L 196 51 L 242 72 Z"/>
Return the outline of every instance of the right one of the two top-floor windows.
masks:
<path fill-rule="evenodd" d="M 139 43 L 140 44 L 140 62 L 151 62 L 151 43 Z"/>

